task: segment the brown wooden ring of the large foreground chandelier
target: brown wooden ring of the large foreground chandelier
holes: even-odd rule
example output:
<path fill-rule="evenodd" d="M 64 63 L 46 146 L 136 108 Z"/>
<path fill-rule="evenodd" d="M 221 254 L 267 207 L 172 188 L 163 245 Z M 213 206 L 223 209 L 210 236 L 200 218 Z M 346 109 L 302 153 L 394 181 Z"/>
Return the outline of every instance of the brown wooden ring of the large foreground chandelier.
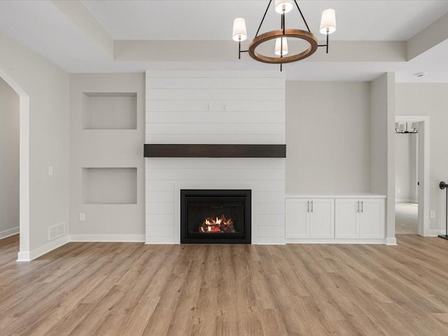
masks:
<path fill-rule="evenodd" d="M 307 48 L 307 50 L 304 50 L 298 54 L 290 55 L 287 57 L 269 57 L 255 51 L 258 45 L 279 37 L 300 38 L 301 40 L 307 41 L 309 43 L 309 47 Z M 307 58 L 313 55 L 314 52 L 316 52 L 317 47 L 318 47 L 317 38 L 316 36 L 314 36 L 314 34 L 311 34 L 309 31 L 305 31 L 302 29 L 285 29 L 284 34 L 282 30 L 274 30 L 274 31 L 268 31 L 265 34 L 261 34 L 260 36 L 253 38 L 253 40 L 249 44 L 248 52 L 253 59 L 259 62 L 270 64 L 283 64 Z"/>

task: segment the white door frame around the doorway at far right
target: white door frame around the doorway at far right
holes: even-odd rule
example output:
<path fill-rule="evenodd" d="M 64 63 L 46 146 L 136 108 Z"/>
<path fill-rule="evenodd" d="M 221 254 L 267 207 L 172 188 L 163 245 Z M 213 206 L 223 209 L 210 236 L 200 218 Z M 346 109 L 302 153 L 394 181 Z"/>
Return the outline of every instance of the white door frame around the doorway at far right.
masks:
<path fill-rule="evenodd" d="M 429 185 L 429 116 L 395 116 L 395 123 L 419 123 L 419 223 L 418 234 L 429 237 L 430 185 Z"/>

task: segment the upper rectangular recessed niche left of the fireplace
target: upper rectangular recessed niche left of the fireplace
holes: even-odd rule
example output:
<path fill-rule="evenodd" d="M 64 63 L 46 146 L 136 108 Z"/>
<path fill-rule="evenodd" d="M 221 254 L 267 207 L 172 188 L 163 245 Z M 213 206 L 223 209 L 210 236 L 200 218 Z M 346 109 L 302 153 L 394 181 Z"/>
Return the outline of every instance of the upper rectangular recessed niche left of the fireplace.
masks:
<path fill-rule="evenodd" d="M 84 92 L 83 130 L 137 130 L 137 93 Z"/>

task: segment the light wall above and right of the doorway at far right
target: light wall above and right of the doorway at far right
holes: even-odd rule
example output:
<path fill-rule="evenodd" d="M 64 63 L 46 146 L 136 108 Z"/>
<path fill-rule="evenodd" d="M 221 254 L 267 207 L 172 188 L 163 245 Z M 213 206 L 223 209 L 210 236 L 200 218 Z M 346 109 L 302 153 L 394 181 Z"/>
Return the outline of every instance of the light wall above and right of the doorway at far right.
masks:
<path fill-rule="evenodd" d="M 445 190 L 440 190 L 440 181 L 448 181 L 448 84 L 407 84 L 396 85 L 397 116 L 430 116 L 430 230 L 445 228 Z M 432 232 L 435 234 L 437 232 Z"/>

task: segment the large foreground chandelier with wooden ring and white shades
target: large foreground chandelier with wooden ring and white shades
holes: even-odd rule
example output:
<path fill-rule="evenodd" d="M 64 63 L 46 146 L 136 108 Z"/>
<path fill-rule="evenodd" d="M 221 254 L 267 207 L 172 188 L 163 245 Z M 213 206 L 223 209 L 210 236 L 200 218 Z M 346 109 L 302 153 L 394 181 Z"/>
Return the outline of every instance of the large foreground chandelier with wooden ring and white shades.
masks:
<path fill-rule="evenodd" d="M 274 9 L 276 13 L 281 15 L 281 29 L 267 31 L 264 34 L 258 35 L 260 32 L 261 25 L 265 20 L 267 11 L 269 10 L 269 6 L 271 6 L 272 0 L 269 0 L 267 4 L 267 8 L 265 10 L 265 15 L 260 22 L 260 26 L 258 27 L 257 33 L 253 40 L 249 43 L 248 50 L 241 50 L 241 42 L 245 41 L 247 38 L 246 32 L 246 21 L 244 18 L 236 18 L 233 22 L 233 40 L 238 42 L 238 58 L 241 59 L 241 52 L 248 52 L 249 55 L 258 62 L 270 63 L 270 64 L 280 64 L 296 62 L 300 59 L 307 58 L 316 52 L 318 47 L 326 47 L 326 51 L 328 53 L 328 35 L 334 33 L 336 31 L 336 14 L 333 9 L 326 9 L 322 13 L 321 18 L 321 27 L 319 31 L 321 34 L 326 35 L 327 43 L 326 44 L 318 44 L 317 38 L 314 34 L 309 30 L 307 20 L 305 20 L 302 10 L 300 10 L 299 5 L 296 0 L 276 0 L 274 1 Z M 304 25 L 307 27 L 307 30 L 302 29 L 286 29 L 285 24 L 285 15 L 289 13 L 294 8 L 294 4 L 297 7 L 297 10 L 302 17 Z M 262 43 L 270 41 L 275 38 L 275 50 L 274 54 L 278 57 L 269 57 L 267 55 L 262 55 L 257 52 L 255 49 Z M 307 41 L 309 43 L 309 47 L 302 51 L 298 52 L 295 55 L 288 55 L 288 38 L 299 38 L 301 40 Z M 286 57 L 285 57 L 286 56 Z"/>

